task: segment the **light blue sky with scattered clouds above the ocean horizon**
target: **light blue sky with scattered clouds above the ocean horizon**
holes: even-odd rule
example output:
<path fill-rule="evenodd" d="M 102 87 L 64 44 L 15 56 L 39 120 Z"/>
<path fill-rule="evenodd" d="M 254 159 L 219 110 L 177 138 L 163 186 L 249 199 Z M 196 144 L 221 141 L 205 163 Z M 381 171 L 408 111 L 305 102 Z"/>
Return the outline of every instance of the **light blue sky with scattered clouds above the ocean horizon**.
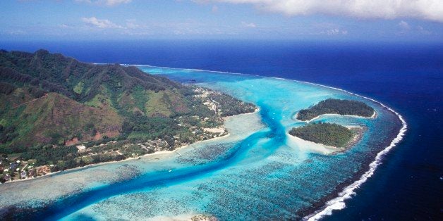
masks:
<path fill-rule="evenodd" d="M 442 0 L 1 0 L 0 40 L 443 42 Z"/>

